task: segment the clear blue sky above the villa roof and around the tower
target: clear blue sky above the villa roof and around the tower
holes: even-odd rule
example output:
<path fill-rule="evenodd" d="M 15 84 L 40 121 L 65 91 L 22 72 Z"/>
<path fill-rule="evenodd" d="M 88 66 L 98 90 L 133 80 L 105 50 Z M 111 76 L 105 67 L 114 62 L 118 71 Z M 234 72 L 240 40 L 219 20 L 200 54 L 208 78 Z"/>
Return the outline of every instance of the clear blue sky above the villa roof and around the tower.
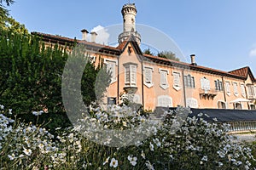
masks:
<path fill-rule="evenodd" d="M 80 30 L 122 24 L 120 10 L 128 1 L 16 0 L 10 14 L 29 31 L 81 37 Z M 137 24 L 171 37 L 189 61 L 231 71 L 250 66 L 256 77 L 255 0 L 131 0 Z M 143 37 L 142 37 L 143 40 Z"/>

